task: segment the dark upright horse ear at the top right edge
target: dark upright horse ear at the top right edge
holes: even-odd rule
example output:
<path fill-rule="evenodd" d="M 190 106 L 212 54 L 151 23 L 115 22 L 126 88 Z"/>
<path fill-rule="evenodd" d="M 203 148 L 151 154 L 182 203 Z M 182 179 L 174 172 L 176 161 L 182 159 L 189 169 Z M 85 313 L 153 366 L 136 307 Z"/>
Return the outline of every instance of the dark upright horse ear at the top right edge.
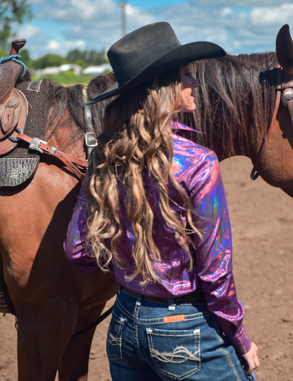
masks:
<path fill-rule="evenodd" d="M 288 24 L 283 25 L 277 34 L 276 56 L 280 66 L 288 74 L 293 74 L 293 41 Z"/>

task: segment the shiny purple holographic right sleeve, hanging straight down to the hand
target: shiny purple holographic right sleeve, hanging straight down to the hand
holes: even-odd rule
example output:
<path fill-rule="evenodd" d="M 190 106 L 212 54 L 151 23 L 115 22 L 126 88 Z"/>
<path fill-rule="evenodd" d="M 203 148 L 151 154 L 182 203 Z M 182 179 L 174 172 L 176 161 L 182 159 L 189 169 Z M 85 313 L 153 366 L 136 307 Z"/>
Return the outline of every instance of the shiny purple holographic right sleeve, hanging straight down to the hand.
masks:
<path fill-rule="evenodd" d="M 201 240 L 195 239 L 197 276 L 209 310 L 236 350 L 244 354 L 250 349 L 251 340 L 242 325 L 244 308 L 236 295 L 228 208 L 214 152 L 205 153 L 188 182 L 196 227 L 203 232 Z"/>

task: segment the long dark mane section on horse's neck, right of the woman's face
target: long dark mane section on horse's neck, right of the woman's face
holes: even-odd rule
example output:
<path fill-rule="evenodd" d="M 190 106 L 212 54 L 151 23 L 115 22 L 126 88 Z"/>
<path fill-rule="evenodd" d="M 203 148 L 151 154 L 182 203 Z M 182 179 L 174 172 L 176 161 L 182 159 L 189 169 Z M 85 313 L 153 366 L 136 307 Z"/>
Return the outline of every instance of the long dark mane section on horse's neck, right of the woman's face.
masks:
<path fill-rule="evenodd" d="M 202 131 L 192 140 L 224 157 L 250 155 L 248 134 L 261 141 L 275 104 L 275 53 L 227 55 L 191 64 L 201 86 L 194 92 L 196 110 L 178 121 Z"/>

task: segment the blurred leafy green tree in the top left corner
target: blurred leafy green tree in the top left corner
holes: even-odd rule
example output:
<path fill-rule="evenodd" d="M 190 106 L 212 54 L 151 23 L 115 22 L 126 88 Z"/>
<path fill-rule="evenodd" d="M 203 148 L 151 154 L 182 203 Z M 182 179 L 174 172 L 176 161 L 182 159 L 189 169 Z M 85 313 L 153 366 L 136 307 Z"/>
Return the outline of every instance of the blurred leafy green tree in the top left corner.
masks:
<path fill-rule="evenodd" d="M 0 48 L 10 51 L 10 40 L 15 33 L 11 24 L 22 24 L 32 18 L 31 5 L 27 0 L 0 0 Z"/>

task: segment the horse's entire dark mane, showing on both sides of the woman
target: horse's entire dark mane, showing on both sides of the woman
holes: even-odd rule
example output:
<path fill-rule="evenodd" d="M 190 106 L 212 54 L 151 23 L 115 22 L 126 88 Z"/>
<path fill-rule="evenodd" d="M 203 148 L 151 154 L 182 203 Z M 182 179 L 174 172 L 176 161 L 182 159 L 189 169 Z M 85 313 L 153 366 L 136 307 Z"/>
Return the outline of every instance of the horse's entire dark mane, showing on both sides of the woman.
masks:
<path fill-rule="evenodd" d="M 220 160 L 236 154 L 250 155 L 251 129 L 253 137 L 261 141 L 272 118 L 276 67 L 275 53 L 227 55 L 193 62 L 191 72 L 201 84 L 194 92 L 196 109 L 193 113 L 179 114 L 177 120 L 203 134 L 188 137 L 216 151 Z M 113 72 L 92 79 L 86 88 L 88 99 L 95 98 L 114 82 Z M 65 132 L 68 125 L 75 124 L 77 128 L 70 131 L 70 144 L 83 138 L 87 132 L 84 88 L 83 85 L 64 87 L 51 83 L 49 137 L 56 128 L 63 128 Z M 112 100 L 91 105 L 97 134 L 101 131 L 105 108 Z"/>

